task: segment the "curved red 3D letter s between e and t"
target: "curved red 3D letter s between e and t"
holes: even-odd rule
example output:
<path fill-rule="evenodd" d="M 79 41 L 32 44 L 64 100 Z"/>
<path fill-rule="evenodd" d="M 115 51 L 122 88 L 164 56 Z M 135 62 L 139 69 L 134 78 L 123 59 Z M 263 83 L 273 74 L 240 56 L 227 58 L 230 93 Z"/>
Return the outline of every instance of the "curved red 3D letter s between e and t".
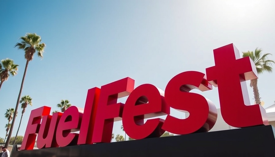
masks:
<path fill-rule="evenodd" d="M 192 89 L 210 90 L 211 84 L 205 75 L 197 71 L 182 72 L 173 77 L 165 89 L 165 101 L 172 108 L 189 112 L 186 119 L 178 119 L 168 115 L 162 128 L 174 134 L 190 134 L 193 132 L 208 132 L 217 120 L 215 105 Z"/>

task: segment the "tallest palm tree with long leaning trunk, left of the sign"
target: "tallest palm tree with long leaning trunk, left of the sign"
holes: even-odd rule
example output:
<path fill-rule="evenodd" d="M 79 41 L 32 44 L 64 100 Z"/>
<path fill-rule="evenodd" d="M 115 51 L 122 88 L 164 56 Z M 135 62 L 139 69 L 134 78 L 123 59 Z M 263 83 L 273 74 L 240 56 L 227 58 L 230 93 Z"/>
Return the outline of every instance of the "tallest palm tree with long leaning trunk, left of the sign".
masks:
<path fill-rule="evenodd" d="M 37 35 L 36 33 L 27 33 L 25 36 L 21 36 L 20 39 L 21 39 L 21 42 L 16 43 L 14 47 L 17 47 L 18 49 L 22 49 L 25 51 L 25 59 L 27 61 L 26 61 L 26 65 L 25 65 L 25 71 L 23 74 L 22 82 L 21 82 L 21 87 L 20 87 L 19 94 L 17 97 L 15 113 L 17 113 L 17 109 L 18 109 L 18 105 L 19 105 L 19 101 L 20 101 L 23 84 L 24 84 L 27 68 L 29 65 L 29 61 L 33 60 L 33 55 L 35 52 L 37 52 L 38 57 L 43 58 L 44 48 L 46 47 L 46 45 L 44 43 L 40 44 L 41 37 L 39 35 Z M 12 123 L 10 126 L 10 132 L 9 132 L 5 147 L 8 147 L 8 145 L 10 143 L 10 137 L 12 134 L 12 130 L 14 128 L 14 122 L 15 122 L 15 118 L 13 118 L 13 120 L 12 120 Z"/>

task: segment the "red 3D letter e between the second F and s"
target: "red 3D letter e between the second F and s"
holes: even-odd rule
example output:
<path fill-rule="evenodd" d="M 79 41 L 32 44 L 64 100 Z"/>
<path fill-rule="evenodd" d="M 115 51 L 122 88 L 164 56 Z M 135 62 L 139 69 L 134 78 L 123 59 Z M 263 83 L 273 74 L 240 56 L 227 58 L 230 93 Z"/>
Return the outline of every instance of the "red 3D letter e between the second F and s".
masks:
<path fill-rule="evenodd" d="M 164 100 L 164 91 L 151 84 L 138 86 L 127 98 L 122 124 L 125 132 L 133 139 L 160 137 L 165 130 L 161 129 L 164 119 L 144 118 L 170 114 L 170 108 Z"/>

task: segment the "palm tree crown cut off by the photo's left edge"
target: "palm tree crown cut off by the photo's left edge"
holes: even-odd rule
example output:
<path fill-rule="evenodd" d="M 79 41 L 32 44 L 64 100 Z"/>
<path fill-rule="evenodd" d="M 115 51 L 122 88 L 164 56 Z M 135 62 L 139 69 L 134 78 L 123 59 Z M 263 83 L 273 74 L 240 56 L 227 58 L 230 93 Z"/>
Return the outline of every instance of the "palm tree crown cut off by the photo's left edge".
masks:
<path fill-rule="evenodd" d="M 2 59 L 0 63 L 0 89 L 4 81 L 8 80 L 10 74 L 15 76 L 17 74 L 17 64 L 14 64 L 12 59 Z"/>

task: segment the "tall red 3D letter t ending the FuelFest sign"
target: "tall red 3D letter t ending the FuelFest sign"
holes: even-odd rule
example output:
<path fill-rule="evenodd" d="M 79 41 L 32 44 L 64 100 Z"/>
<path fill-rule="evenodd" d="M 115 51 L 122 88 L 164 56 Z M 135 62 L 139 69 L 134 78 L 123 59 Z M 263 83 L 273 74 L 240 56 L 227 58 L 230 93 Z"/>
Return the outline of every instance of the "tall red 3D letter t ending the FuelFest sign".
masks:
<path fill-rule="evenodd" d="M 265 109 L 250 105 L 246 80 L 256 79 L 255 64 L 249 57 L 240 58 L 238 49 L 229 44 L 214 50 L 215 66 L 206 69 L 207 80 L 218 86 L 223 120 L 242 128 L 268 124 Z"/>

